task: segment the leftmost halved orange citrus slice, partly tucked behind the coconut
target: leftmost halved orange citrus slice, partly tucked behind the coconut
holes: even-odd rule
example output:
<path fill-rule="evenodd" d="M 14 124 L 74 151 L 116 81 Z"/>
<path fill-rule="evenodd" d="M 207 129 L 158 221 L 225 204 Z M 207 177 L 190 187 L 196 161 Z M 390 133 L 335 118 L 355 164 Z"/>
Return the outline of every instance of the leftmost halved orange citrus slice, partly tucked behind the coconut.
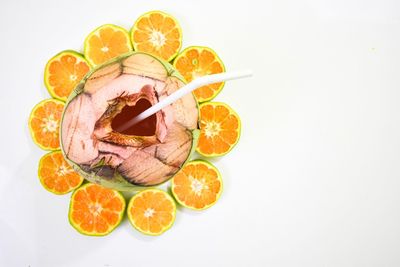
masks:
<path fill-rule="evenodd" d="M 60 148 L 59 128 L 64 103 L 46 99 L 37 104 L 29 116 L 29 131 L 33 141 L 44 150 Z"/>

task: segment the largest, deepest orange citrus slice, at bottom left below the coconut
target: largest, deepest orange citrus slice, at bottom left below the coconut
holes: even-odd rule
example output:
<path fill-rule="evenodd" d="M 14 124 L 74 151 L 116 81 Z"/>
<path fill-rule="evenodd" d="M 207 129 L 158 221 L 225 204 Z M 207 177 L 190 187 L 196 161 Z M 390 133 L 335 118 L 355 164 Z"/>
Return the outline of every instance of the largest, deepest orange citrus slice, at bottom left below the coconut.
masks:
<path fill-rule="evenodd" d="M 125 199 L 116 190 L 97 184 L 85 184 L 71 196 L 69 221 L 81 234 L 103 236 L 121 222 Z"/>

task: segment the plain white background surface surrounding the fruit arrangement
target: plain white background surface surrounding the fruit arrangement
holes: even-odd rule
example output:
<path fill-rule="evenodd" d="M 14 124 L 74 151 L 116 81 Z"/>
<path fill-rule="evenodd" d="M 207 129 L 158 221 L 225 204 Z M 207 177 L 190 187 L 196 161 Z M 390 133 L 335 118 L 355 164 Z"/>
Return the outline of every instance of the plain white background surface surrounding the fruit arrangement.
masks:
<path fill-rule="evenodd" d="M 38 181 L 28 116 L 50 57 L 152 9 L 180 21 L 184 47 L 254 70 L 216 98 L 242 137 L 213 161 L 214 207 L 160 237 L 127 220 L 82 236 L 69 195 Z M 0 36 L 0 266 L 400 266 L 399 1 L 2 0 Z"/>

